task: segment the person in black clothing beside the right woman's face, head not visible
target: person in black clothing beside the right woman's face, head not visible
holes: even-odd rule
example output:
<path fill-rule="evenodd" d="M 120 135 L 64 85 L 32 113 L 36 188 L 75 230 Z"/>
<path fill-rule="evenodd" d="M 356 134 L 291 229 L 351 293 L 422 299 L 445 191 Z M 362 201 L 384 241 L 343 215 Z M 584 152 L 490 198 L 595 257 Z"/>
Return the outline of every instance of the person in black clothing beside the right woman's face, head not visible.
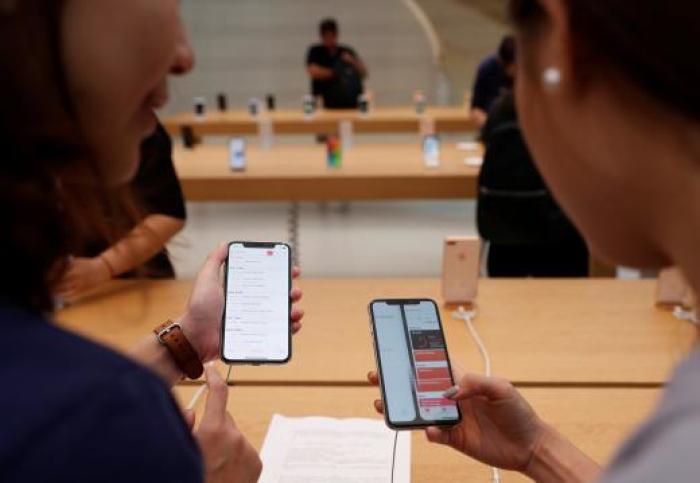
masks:
<path fill-rule="evenodd" d="M 588 248 L 552 197 L 523 139 L 515 96 L 496 100 L 482 129 L 477 226 L 489 277 L 586 277 Z"/>

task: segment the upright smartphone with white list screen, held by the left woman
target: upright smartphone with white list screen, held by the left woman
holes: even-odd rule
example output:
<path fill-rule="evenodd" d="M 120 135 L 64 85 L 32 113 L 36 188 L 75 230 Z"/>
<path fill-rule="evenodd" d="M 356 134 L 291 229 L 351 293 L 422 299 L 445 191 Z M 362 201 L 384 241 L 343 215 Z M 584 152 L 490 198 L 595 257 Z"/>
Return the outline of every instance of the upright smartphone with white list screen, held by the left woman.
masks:
<path fill-rule="evenodd" d="M 291 359 L 290 252 L 285 243 L 229 244 L 221 324 L 224 362 L 284 364 Z"/>

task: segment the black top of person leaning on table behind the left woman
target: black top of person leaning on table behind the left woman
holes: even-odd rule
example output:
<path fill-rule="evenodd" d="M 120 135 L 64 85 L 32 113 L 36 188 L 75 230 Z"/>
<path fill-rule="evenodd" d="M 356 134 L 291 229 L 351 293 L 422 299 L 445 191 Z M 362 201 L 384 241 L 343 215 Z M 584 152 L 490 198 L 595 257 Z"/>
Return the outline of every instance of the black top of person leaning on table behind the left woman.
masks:
<path fill-rule="evenodd" d="M 187 218 L 182 188 L 173 165 L 172 150 L 170 136 L 160 124 L 156 132 L 141 144 L 141 160 L 129 188 L 144 217 L 161 214 L 180 220 Z M 109 246 L 106 240 L 94 240 L 83 253 L 76 255 L 96 257 Z M 149 278 L 175 277 L 167 250 L 163 248 L 146 262 L 140 274 Z M 125 276 L 132 275 L 128 273 Z"/>

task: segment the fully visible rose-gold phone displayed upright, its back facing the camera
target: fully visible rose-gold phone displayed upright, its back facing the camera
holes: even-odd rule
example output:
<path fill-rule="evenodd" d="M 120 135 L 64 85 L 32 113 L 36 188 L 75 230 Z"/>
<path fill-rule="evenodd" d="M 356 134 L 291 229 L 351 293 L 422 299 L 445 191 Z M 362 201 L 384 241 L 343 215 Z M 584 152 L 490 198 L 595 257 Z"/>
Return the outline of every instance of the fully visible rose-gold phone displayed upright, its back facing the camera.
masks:
<path fill-rule="evenodd" d="M 479 283 L 481 241 L 475 236 L 445 238 L 442 298 L 445 303 L 473 303 Z"/>

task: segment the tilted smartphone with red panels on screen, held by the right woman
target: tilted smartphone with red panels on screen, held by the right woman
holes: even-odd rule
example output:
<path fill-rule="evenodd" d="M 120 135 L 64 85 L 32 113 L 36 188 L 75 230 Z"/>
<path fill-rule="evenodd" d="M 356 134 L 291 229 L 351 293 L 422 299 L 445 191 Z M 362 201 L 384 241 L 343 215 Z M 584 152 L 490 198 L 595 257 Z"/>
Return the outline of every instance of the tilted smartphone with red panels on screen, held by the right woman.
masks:
<path fill-rule="evenodd" d="M 454 386 L 437 304 L 429 299 L 369 305 L 384 418 L 392 429 L 453 426 L 459 406 L 442 394 Z"/>

